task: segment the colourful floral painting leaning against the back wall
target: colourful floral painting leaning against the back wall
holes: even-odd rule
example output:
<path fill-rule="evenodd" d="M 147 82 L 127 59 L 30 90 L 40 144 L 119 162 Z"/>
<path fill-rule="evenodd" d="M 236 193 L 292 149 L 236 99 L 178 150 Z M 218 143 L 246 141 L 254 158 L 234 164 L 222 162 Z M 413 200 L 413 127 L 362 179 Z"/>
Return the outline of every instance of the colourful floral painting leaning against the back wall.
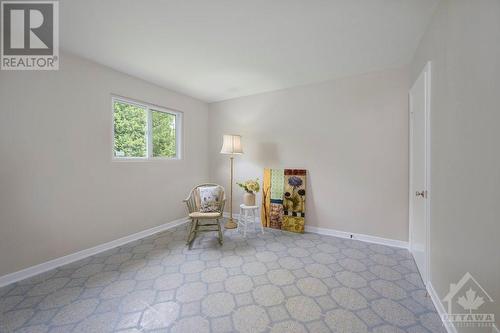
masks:
<path fill-rule="evenodd" d="M 261 221 L 265 227 L 304 232 L 306 170 L 264 169 Z"/>

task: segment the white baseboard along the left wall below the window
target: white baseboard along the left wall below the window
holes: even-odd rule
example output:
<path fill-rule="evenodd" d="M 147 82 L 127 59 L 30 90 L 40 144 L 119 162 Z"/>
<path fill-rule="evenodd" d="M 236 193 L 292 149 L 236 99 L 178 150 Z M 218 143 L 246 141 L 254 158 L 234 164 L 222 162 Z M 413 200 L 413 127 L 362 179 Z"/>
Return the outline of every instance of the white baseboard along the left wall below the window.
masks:
<path fill-rule="evenodd" d="M 85 250 L 82 250 L 82 251 L 79 251 L 76 253 L 69 254 L 69 255 L 64 256 L 64 257 L 59 257 L 59 258 L 56 258 L 56 259 L 53 259 L 50 261 L 46 261 L 46 262 L 41 263 L 39 265 L 25 268 L 23 270 L 20 270 L 20 271 L 14 272 L 14 273 L 0 276 L 0 287 L 6 286 L 8 284 L 11 284 L 11 283 L 14 283 L 17 281 L 27 279 L 27 278 L 32 277 L 34 275 L 44 273 L 44 272 L 49 271 L 51 269 L 54 269 L 54 268 L 57 268 L 57 267 L 60 267 L 63 265 L 67 265 L 67 264 L 70 264 L 72 262 L 75 262 L 75 261 L 78 261 L 81 259 L 85 259 L 87 257 L 94 255 L 94 254 L 110 250 L 110 249 L 115 248 L 117 246 L 121 246 L 121 245 L 130 243 L 130 242 L 136 241 L 138 239 L 157 234 L 159 232 L 162 232 L 162 231 L 174 228 L 174 227 L 181 225 L 183 223 L 186 223 L 187 221 L 188 221 L 188 218 L 184 217 L 184 218 L 181 218 L 178 220 L 174 220 L 174 221 L 159 225 L 159 226 L 151 228 L 151 229 L 139 231 L 135 234 L 125 236 L 125 237 L 122 237 L 119 239 L 115 239 L 111 242 L 107 242 L 104 244 L 100 244 L 100 245 L 91 247 L 90 249 L 85 249 Z"/>

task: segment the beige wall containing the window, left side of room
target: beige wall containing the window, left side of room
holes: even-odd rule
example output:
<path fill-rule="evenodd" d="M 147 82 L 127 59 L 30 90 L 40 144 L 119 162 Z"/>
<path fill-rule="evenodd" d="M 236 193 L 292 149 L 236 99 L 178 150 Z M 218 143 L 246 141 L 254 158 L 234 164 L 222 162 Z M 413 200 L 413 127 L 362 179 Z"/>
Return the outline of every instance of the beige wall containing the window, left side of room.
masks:
<path fill-rule="evenodd" d="M 0 276 L 170 222 L 208 180 L 207 106 L 63 53 L 0 72 Z M 182 160 L 113 162 L 111 94 L 184 112 Z"/>

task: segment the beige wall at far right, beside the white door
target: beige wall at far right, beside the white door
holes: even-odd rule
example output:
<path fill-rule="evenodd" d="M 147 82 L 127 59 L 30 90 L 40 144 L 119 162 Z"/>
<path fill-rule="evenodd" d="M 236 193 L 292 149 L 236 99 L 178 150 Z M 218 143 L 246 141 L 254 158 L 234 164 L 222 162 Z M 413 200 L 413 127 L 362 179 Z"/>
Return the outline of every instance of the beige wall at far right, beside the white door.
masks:
<path fill-rule="evenodd" d="M 480 312 L 500 326 L 500 1 L 442 1 L 412 81 L 429 60 L 431 282 L 443 298 L 470 272 L 495 301 Z"/>

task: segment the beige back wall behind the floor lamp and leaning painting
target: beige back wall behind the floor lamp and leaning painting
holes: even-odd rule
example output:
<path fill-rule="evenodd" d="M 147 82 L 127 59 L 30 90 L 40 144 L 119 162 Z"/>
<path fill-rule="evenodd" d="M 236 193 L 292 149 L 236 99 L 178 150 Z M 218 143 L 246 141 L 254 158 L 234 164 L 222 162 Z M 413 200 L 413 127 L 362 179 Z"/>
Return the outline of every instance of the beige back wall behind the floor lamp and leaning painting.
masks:
<path fill-rule="evenodd" d="M 229 186 L 223 134 L 243 136 L 235 179 L 308 171 L 307 225 L 408 240 L 407 69 L 209 104 L 213 181 Z M 236 189 L 234 209 L 242 202 Z"/>

